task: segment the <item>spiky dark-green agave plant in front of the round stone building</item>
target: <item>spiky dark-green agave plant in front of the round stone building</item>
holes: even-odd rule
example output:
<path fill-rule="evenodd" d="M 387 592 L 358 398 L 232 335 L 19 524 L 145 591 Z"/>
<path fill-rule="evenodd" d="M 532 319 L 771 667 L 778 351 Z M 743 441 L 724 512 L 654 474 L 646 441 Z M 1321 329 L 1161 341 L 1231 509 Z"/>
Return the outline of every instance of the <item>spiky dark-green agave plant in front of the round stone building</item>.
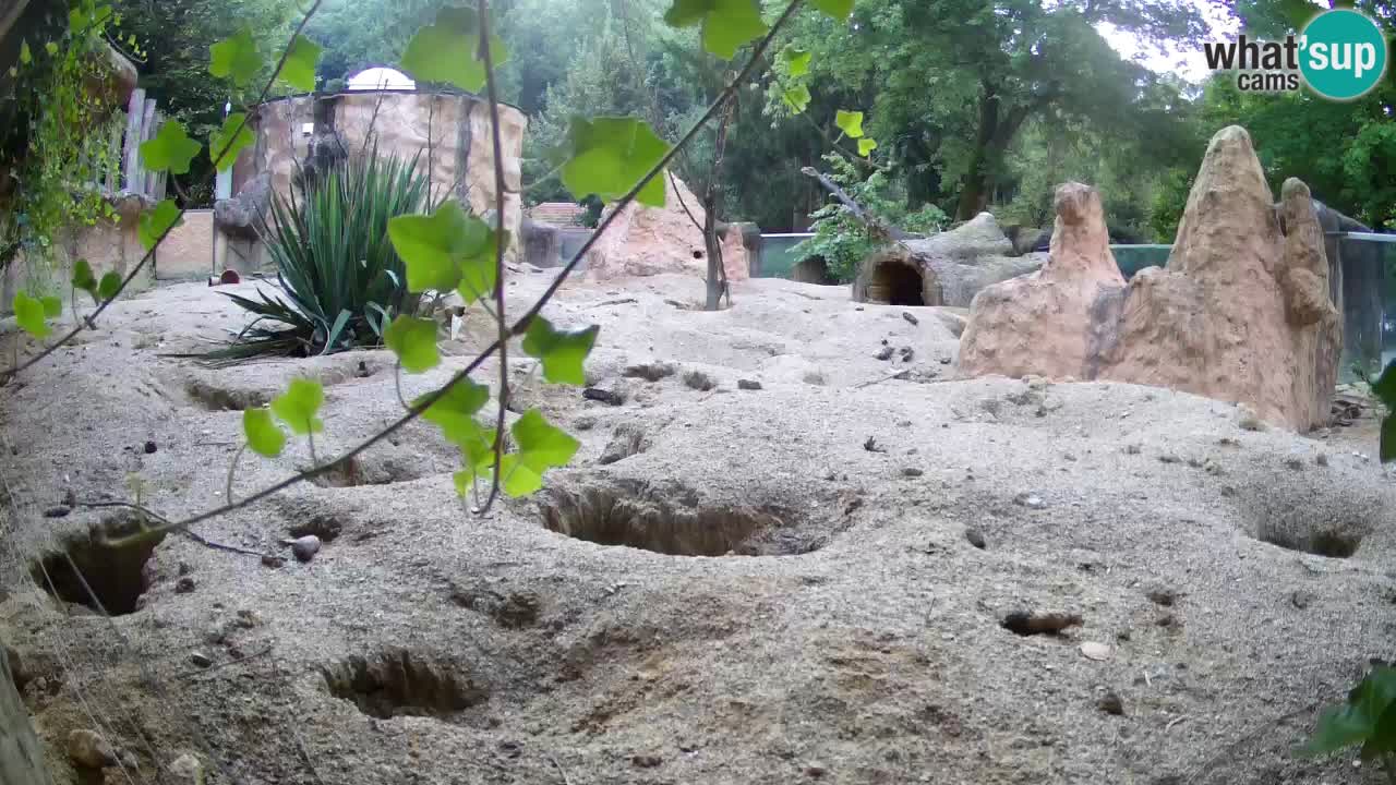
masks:
<path fill-rule="evenodd" d="M 376 151 L 302 177 L 289 198 L 274 193 L 257 232 L 276 265 L 281 293 L 260 299 L 228 293 L 257 318 L 237 339 L 205 355 L 237 362 L 260 355 L 328 355 L 383 344 L 398 314 L 422 296 L 408 292 L 388 221 L 429 210 L 429 180 L 417 159 Z"/>

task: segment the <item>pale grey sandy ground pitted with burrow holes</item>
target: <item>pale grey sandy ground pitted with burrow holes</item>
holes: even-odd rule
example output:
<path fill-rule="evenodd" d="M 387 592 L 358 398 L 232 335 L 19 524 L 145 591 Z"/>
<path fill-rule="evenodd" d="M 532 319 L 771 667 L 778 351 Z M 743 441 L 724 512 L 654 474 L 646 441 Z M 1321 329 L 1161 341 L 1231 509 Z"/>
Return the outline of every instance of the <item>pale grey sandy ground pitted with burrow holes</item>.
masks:
<path fill-rule="evenodd" d="M 91 729 L 113 784 L 184 782 L 181 756 L 244 785 L 1379 781 L 1291 754 L 1396 641 L 1389 480 L 1354 454 L 1375 439 L 1159 388 L 956 381 L 955 311 L 751 281 L 702 313 L 701 286 L 563 289 L 549 316 L 602 325 L 588 373 L 623 402 L 519 363 L 521 402 L 584 444 L 539 496 L 470 515 L 413 425 L 197 527 L 279 567 L 184 536 L 144 564 L 75 548 L 110 620 L 32 580 L 113 518 L 46 517 L 68 492 L 221 504 L 236 409 L 317 377 L 317 450 L 342 451 L 399 413 L 391 355 L 162 358 L 244 321 L 180 285 L 8 386 L 0 637 L 56 779 L 103 779 L 64 753 Z M 403 392 L 487 332 L 469 318 Z M 307 461 L 244 457 L 235 494 Z M 304 534 L 310 563 L 283 545 Z"/>

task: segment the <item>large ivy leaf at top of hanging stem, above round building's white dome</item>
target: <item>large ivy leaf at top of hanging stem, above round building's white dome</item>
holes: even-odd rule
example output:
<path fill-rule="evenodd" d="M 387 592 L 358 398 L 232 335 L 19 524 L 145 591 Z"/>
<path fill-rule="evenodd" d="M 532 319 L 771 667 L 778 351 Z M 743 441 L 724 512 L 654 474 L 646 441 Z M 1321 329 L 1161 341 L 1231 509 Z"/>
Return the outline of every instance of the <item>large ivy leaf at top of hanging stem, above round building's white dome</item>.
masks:
<path fill-rule="evenodd" d="M 508 47 L 490 35 L 490 61 L 494 67 L 510 59 Z M 416 32 L 402 53 L 402 67 L 419 81 L 448 82 L 461 89 L 484 87 L 484 60 L 480 57 L 480 18 L 475 8 L 445 7 L 434 24 Z"/>

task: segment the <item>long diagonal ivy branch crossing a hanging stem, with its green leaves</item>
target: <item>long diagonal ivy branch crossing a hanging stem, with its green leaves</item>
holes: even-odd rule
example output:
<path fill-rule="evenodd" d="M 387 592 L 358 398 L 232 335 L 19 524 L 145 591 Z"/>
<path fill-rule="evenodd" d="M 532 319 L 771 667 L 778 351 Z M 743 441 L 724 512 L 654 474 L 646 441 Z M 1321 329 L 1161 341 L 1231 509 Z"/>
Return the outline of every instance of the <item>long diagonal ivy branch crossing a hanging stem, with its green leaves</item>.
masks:
<path fill-rule="evenodd" d="M 825 8 L 826 6 L 831 3 L 842 6 L 845 1 L 847 6 L 852 6 L 852 0 L 817 0 L 817 4 L 828 13 Z M 678 3 L 683 3 L 683 0 L 678 0 Z M 229 499 L 228 503 L 216 508 L 198 513 L 183 521 L 169 521 L 161 524 L 158 528 L 144 532 L 140 536 L 145 536 L 147 534 L 163 534 L 173 529 L 184 529 L 198 522 L 254 504 L 296 483 L 325 475 L 348 465 L 355 457 L 389 439 L 394 433 L 399 432 L 417 418 L 424 418 L 429 422 L 437 423 L 445 433 L 447 439 L 461 447 L 465 457 L 465 468 L 456 474 L 456 487 L 459 490 L 465 492 L 477 474 L 489 464 L 493 464 L 493 467 L 489 467 L 493 469 L 491 490 L 486 504 L 477 511 L 483 513 L 487 510 L 489 503 L 496 499 L 501 487 L 511 496 L 530 493 L 540 487 L 542 474 L 550 467 L 568 462 L 572 454 L 575 454 L 578 443 L 572 437 L 549 425 L 540 413 L 530 411 L 519 418 L 519 420 L 510 429 L 510 436 L 515 450 L 505 453 L 503 429 L 505 401 L 500 401 L 500 419 L 496 423 L 494 433 L 484 433 L 483 429 L 475 423 L 473 416 L 489 399 L 489 390 L 470 380 L 470 376 L 496 353 L 500 353 L 500 356 L 504 358 L 505 345 L 510 339 L 524 337 L 524 351 L 540 360 L 543 366 L 543 376 L 547 381 L 567 384 L 581 384 L 585 381 L 582 360 L 595 345 L 597 328 L 589 327 L 579 331 L 561 331 L 543 318 L 540 311 L 557 293 L 568 275 L 577 270 L 581 260 L 586 257 L 592 247 L 595 247 L 596 242 L 604 235 L 616 218 L 624 214 L 624 208 L 637 200 L 648 201 L 646 198 L 642 198 L 642 194 L 649 197 L 653 196 L 653 190 L 646 191 L 646 189 L 651 189 L 655 179 L 663 173 L 678 151 L 692 141 L 701 129 L 726 108 L 726 105 L 736 95 L 737 89 L 740 89 L 740 87 L 751 78 L 758 64 L 764 61 L 762 57 L 776 34 L 796 14 L 800 6 L 801 0 L 792 0 L 789 3 L 775 24 L 772 24 L 766 31 L 765 36 L 755 45 L 751 57 L 747 60 L 737 77 L 727 84 L 718 98 L 713 99 L 704 115 L 688 129 L 677 144 L 655 145 L 653 141 L 649 140 L 649 137 L 653 137 L 653 133 L 648 129 L 648 126 L 644 126 L 644 123 L 634 119 L 630 119 L 628 126 L 624 123 L 613 123 L 613 130 L 628 131 L 613 137 L 591 134 L 588 133 L 588 126 L 582 126 L 579 131 L 570 134 L 572 155 L 568 166 L 571 168 L 571 173 L 564 176 L 570 176 L 572 179 L 570 187 L 572 187 L 574 191 L 584 190 L 584 194 L 604 194 L 611 191 L 614 187 L 614 172 L 617 169 L 628 170 L 642 168 L 642 175 L 635 179 L 623 194 L 618 196 L 617 208 L 610 211 L 602 219 L 596 230 L 592 232 L 572 258 L 568 260 L 568 263 L 558 271 L 539 299 L 512 324 L 505 321 L 503 296 L 498 293 L 496 295 L 497 313 L 494 316 L 500 325 L 498 337 L 493 344 L 477 353 L 475 359 L 466 363 L 463 369 L 454 373 L 445 384 L 417 398 L 396 420 L 387 425 L 373 436 L 369 436 L 332 461 L 315 464 L 307 471 L 297 472 L 247 497 L 239 500 Z M 479 0 L 477 18 L 483 18 L 486 13 L 486 0 Z M 845 13 L 845 17 L 846 15 L 847 14 Z M 461 15 L 445 20 L 438 17 L 437 25 L 433 27 L 443 25 L 447 25 L 448 29 L 454 29 L 456 35 L 461 35 L 461 28 L 469 25 L 469 22 Z M 427 29 L 430 28 L 424 28 L 423 32 Z M 479 27 L 475 28 L 475 32 L 479 36 L 479 49 L 476 49 L 472 56 L 477 57 L 483 63 L 484 82 L 486 87 L 489 87 L 493 71 L 490 47 L 494 45 L 494 41 L 489 35 L 487 21 L 479 24 Z M 441 31 L 436 29 L 427 35 L 440 36 Z M 409 45 L 408 50 L 410 53 L 413 52 L 413 47 Z M 440 56 L 438 50 L 431 54 L 431 57 L 437 56 Z M 403 64 L 409 64 L 406 59 Z M 419 67 L 422 64 L 427 64 L 430 67 L 438 66 L 431 61 L 417 63 Z M 455 80 L 454 84 L 461 84 L 461 81 L 469 84 L 469 80 L 472 78 L 473 71 L 459 73 L 452 77 L 452 80 Z M 503 186 L 503 156 L 498 154 L 498 149 L 501 148 L 497 122 L 498 102 L 497 96 L 493 95 L 493 91 L 490 95 L 490 103 L 496 112 L 496 183 L 497 186 Z M 589 129 L 595 130 L 595 123 L 589 124 Z M 659 189 L 658 196 L 662 201 L 663 180 L 659 180 Z M 500 222 L 503 222 L 504 215 L 503 210 L 500 210 L 503 208 L 503 193 L 504 189 L 497 187 L 496 215 Z M 437 208 L 434 215 L 430 217 L 399 217 L 394 219 L 394 225 L 389 225 L 389 233 L 394 233 L 395 226 L 396 236 L 394 237 L 394 243 L 408 267 L 409 288 L 452 289 L 465 285 L 462 295 L 466 295 L 468 302 L 472 302 L 482 299 L 491 288 L 496 292 L 501 288 L 500 278 L 503 268 L 503 249 L 508 240 L 503 232 L 503 226 L 496 229 L 483 226 L 484 232 L 482 232 L 480 229 L 483 222 L 479 222 L 479 219 L 473 217 L 456 215 L 456 211 L 459 211 L 458 205 L 454 205 L 454 203 L 445 203 Z M 482 258 L 484 257 L 483 251 L 486 249 L 493 253 L 493 268 L 482 264 Z M 489 278 L 484 277 L 486 270 L 491 274 Z M 472 278 L 472 275 L 475 275 L 475 278 Z M 424 345 L 426 342 L 434 342 L 434 331 L 429 332 L 423 328 L 423 325 L 408 321 L 410 318 L 412 317 L 399 316 L 394 321 L 394 325 L 389 327 L 394 335 L 389 342 L 389 348 L 398 355 L 399 363 L 405 369 L 427 370 L 434 367 L 440 362 L 440 353 L 434 346 L 427 348 Z M 505 362 L 501 362 L 500 365 L 507 366 Z M 300 383 L 315 384 L 303 380 L 300 380 Z M 315 387 L 318 388 L 317 384 Z M 504 395 L 507 395 L 507 367 L 501 369 L 501 390 L 504 391 Z M 278 448 L 281 446 L 281 440 L 268 433 L 268 429 L 275 427 L 275 425 L 269 422 L 269 415 L 251 415 L 251 425 L 248 425 L 250 420 L 246 418 L 247 415 L 244 415 L 244 430 L 248 446 L 262 446 L 267 451 L 276 451 L 279 454 Z M 257 450 L 257 447 L 254 447 L 254 450 Z"/>

